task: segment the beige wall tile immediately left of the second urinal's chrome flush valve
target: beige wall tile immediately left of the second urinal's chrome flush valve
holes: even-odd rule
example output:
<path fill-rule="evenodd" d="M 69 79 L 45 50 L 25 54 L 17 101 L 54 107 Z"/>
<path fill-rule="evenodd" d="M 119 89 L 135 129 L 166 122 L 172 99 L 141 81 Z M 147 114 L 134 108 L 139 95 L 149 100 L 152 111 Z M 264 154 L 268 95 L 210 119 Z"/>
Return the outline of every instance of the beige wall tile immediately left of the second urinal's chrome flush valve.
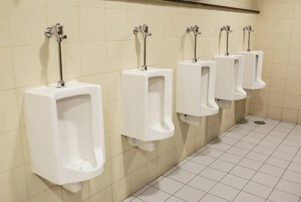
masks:
<path fill-rule="evenodd" d="M 116 24 L 118 24 L 119 30 L 127 30 L 127 10 L 107 8 L 105 10 L 105 18 L 106 40 L 126 40 L 127 31 L 112 30 L 115 30 Z"/>

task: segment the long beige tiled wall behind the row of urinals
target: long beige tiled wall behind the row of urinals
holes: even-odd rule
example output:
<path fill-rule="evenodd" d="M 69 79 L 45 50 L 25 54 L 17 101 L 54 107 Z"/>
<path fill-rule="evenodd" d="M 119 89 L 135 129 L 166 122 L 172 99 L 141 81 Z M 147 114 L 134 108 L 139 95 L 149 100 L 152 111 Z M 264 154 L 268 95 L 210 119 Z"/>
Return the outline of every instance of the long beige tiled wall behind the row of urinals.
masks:
<path fill-rule="evenodd" d="M 197 56 L 212 60 L 225 51 L 222 25 L 231 25 L 229 50 L 236 52 L 246 49 L 242 27 L 256 18 L 154 0 L 0 0 L 0 201 L 119 202 L 234 125 L 248 114 L 249 99 L 204 117 L 199 127 L 179 120 L 177 62 L 192 58 L 187 26 L 200 26 Z M 56 22 L 68 35 L 62 44 L 64 77 L 100 84 L 103 91 L 105 171 L 76 194 L 31 172 L 24 116 L 23 92 L 58 80 L 57 44 L 44 35 Z M 152 152 L 131 147 L 120 135 L 119 74 L 141 65 L 141 35 L 132 28 L 142 23 L 153 33 L 147 37 L 147 64 L 174 70 L 175 135 Z"/>

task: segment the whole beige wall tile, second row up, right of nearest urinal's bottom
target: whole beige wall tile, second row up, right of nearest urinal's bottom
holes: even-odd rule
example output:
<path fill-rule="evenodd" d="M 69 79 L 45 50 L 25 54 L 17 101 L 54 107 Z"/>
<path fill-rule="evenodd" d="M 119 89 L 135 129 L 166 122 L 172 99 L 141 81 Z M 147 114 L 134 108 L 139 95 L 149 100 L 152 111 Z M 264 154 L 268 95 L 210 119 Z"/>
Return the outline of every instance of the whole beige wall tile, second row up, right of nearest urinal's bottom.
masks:
<path fill-rule="evenodd" d="M 111 158 L 112 183 L 130 173 L 129 151 Z"/>

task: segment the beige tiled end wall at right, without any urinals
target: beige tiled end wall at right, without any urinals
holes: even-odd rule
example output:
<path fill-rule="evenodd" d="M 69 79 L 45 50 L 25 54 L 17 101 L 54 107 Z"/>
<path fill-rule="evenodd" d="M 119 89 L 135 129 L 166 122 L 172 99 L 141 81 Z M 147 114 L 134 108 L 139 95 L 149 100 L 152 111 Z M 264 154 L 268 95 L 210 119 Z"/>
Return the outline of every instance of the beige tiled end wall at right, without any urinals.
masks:
<path fill-rule="evenodd" d="M 268 118 L 301 123 L 301 2 L 256 0 L 262 10 L 257 20 L 256 49 L 263 50 L 263 80 L 255 90 L 250 112 Z"/>

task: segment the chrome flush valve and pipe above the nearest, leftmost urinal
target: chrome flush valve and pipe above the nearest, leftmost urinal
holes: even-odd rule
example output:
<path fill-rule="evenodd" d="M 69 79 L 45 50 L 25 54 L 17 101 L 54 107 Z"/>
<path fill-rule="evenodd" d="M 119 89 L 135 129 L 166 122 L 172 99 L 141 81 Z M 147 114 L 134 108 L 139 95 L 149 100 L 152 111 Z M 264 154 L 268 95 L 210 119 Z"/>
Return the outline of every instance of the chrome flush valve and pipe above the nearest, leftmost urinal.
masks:
<path fill-rule="evenodd" d="M 62 67 L 62 52 L 61 52 L 61 42 L 63 39 L 67 38 L 67 35 L 64 34 L 64 26 L 60 23 L 56 23 L 51 27 L 45 29 L 45 34 L 48 37 L 54 35 L 57 38 L 58 42 L 58 52 L 59 52 L 59 65 L 60 65 L 60 80 L 57 82 L 57 87 L 66 87 L 65 81 L 63 80 L 63 67 Z"/>

